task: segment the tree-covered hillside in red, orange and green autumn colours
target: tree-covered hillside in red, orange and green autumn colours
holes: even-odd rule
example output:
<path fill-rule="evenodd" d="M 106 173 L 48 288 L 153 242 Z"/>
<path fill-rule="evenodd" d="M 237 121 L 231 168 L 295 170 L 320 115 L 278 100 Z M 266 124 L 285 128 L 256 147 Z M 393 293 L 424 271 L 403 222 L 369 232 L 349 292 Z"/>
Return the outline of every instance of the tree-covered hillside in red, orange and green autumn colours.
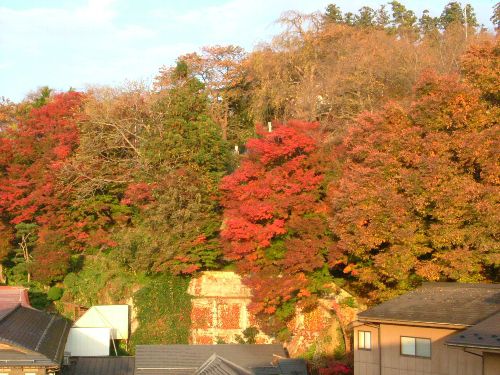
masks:
<path fill-rule="evenodd" d="M 4 100 L 4 281 L 39 307 L 135 296 L 143 343 L 187 339 L 203 270 L 241 273 L 275 335 L 332 283 L 374 303 L 500 281 L 500 46 L 467 7 L 288 12 L 271 42 L 180 56 L 151 88 Z"/>

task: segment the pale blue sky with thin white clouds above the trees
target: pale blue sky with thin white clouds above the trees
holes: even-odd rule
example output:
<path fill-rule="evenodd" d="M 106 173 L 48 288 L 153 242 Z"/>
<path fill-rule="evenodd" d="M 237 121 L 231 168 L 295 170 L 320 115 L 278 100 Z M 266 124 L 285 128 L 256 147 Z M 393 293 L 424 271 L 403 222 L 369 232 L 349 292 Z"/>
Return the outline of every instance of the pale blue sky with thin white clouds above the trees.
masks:
<path fill-rule="evenodd" d="M 439 15 L 450 0 L 400 0 L 418 16 Z M 41 86 L 150 84 L 159 68 L 203 46 L 252 51 L 279 31 L 287 10 L 344 12 L 376 0 L 0 0 L 0 97 L 22 100 Z M 479 23 L 496 0 L 471 0 Z"/>

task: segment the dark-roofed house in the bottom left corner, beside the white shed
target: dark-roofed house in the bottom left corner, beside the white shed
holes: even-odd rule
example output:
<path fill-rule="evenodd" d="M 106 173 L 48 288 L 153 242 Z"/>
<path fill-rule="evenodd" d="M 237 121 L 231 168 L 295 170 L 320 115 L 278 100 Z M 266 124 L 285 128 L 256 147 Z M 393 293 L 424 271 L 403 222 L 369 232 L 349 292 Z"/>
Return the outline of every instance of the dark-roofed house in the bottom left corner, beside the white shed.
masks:
<path fill-rule="evenodd" d="M 0 374 L 54 374 L 61 368 L 70 323 L 18 304 L 0 313 Z"/>

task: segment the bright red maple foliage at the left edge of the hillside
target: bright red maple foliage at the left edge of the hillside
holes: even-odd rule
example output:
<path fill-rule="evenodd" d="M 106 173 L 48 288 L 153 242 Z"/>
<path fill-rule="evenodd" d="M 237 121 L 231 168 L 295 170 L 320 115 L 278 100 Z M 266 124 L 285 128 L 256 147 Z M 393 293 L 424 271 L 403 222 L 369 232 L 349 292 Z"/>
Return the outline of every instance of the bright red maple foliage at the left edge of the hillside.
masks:
<path fill-rule="evenodd" d="M 82 94 L 60 94 L 34 108 L 16 128 L 0 137 L 0 211 L 10 222 L 43 223 L 45 215 L 64 205 L 55 183 L 64 159 L 78 145 L 75 114 Z"/>

